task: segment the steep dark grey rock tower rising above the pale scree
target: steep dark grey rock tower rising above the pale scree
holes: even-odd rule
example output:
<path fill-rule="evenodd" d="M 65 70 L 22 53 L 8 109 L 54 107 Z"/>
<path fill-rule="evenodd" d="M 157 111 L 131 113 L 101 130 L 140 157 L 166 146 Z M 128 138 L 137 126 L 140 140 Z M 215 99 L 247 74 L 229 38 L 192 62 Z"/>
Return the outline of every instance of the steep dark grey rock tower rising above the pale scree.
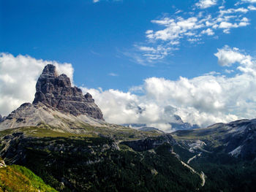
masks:
<path fill-rule="evenodd" d="M 66 74 L 57 75 L 56 67 L 48 64 L 37 80 L 33 104 L 41 102 L 60 112 L 72 115 L 89 115 L 103 120 L 103 115 L 90 93 L 83 95 L 80 88 L 72 87 Z"/>

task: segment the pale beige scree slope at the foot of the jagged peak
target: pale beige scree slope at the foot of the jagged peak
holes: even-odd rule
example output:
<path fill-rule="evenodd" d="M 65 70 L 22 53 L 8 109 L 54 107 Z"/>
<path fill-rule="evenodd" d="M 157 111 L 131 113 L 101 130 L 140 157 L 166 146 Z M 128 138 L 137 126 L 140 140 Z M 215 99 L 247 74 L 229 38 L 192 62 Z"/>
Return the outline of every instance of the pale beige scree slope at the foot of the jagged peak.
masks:
<path fill-rule="evenodd" d="M 95 119 L 89 115 L 71 115 L 69 113 L 59 112 L 53 107 L 46 107 L 41 102 L 37 104 L 24 103 L 7 116 L 0 123 L 0 130 L 6 128 L 18 128 L 24 126 L 39 126 L 47 124 L 61 131 L 68 131 L 80 134 L 86 126 L 105 127 L 108 123 L 105 120 Z"/>

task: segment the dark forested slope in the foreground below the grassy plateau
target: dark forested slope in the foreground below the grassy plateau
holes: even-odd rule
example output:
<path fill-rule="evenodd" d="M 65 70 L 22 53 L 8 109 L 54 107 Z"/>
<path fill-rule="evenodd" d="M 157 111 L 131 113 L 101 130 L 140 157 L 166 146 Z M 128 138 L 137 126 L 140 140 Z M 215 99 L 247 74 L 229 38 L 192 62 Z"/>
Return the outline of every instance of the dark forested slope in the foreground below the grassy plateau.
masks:
<path fill-rule="evenodd" d="M 7 164 L 26 166 L 57 191 L 200 188 L 200 177 L 181 164 L 167 142 L 137 152 L 107 137 L 26 137 L 18 132 L 1 143 Z"/>

